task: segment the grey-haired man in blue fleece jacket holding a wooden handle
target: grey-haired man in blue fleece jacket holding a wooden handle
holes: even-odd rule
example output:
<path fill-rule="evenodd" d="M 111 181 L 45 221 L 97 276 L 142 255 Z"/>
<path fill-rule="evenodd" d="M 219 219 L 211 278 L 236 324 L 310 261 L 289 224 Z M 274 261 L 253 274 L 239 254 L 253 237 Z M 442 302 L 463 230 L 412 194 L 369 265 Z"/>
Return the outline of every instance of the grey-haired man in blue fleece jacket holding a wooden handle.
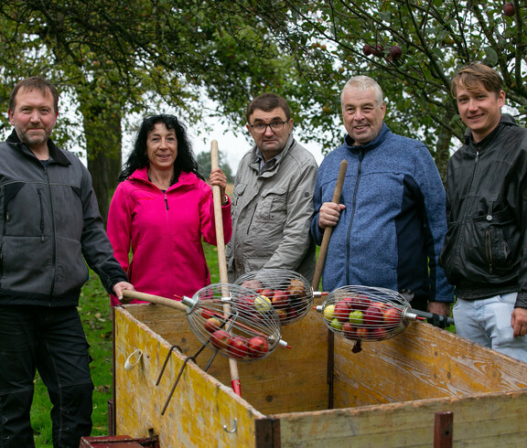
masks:
<path fill-rule="evenodd" d="M 366 285 L 411 292 L 414 309 L 449 315 L 454 290 L 437 262 L 446 233 L 445 189 L 432 155 L 383 123 L 386 104 L 375 80 L 351 78 L 340 101 L 348 134 L 318 168 L 311 221 L 317 244 L 334 227 L 324 290 Z M 348 170 L 336 204 L 343 159 Z"/>

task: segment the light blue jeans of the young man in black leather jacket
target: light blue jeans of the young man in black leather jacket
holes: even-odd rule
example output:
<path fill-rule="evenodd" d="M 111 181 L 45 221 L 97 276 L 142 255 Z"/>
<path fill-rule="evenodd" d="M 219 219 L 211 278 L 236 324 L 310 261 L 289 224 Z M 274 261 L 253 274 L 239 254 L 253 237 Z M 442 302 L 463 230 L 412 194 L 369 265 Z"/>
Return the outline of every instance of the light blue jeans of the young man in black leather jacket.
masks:
<path fill-rule="evenodd" d="M 506 293 L 481 300 L 457 299 L 453 309 L 457 335 L 527 362 L 527 336 L 512 336 L 511 315 L 517 295 Z"/>

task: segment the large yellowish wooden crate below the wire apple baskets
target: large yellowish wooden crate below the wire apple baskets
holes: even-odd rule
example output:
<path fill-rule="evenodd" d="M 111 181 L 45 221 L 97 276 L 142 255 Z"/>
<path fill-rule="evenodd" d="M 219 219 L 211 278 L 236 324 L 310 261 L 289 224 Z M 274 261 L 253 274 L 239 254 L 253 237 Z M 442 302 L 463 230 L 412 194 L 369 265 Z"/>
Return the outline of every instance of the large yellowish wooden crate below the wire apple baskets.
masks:
<path fill-rule="evenodd" d="M 185 357 L 200 347 L 186 316 L 127 305 L 115 310 L 114 337 L 116 433 L 154 433 L 162 448 L 430 447 L 441 411 L 453 411 L 455 446 L 525 446 L 527 364 L 432 325 L 413 323 L 354 354 L 340 337 L 328 350 L 322 316 L 310 312 L 283 328 L 290 350 L 238 364 L 242 398 L 226 357 L 203 371 L 207 349 L 187 363 L 163 415 Z M 173 345 L 184 355 L 172 352 L 156 386 Z M 136 348 L 143 357 L 125 370 Z"/>

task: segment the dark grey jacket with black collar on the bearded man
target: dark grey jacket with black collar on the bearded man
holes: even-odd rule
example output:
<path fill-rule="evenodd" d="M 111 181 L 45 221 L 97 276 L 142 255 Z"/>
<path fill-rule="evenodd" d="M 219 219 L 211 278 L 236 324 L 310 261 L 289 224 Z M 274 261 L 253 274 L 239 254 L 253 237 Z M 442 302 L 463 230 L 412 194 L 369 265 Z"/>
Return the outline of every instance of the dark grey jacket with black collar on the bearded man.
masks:
<path fill-rule="evenodd" d="M 88 170 L 50 140 L 48 148 L 45 167 L 15 131 L 0 144 L 0 304 L 77 305 L 86 263 L 108 292 L 127 281 Z"/>

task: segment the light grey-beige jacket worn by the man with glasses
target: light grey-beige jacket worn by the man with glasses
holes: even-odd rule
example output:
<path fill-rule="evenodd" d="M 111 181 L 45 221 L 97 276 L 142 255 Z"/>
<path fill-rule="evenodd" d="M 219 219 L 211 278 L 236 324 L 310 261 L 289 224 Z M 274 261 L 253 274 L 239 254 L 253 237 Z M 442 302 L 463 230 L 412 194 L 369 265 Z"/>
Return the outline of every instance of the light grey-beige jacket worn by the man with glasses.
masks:
<path fill-rule="evenodd" d="M 316 245 L 309 236 L 317 162 L 293 134 L 276 165 L 259 174 L 256 147 L 243 156 L 232 197 L 229 281 L 262 268 L 290 269 L 309 282 Z"/>

